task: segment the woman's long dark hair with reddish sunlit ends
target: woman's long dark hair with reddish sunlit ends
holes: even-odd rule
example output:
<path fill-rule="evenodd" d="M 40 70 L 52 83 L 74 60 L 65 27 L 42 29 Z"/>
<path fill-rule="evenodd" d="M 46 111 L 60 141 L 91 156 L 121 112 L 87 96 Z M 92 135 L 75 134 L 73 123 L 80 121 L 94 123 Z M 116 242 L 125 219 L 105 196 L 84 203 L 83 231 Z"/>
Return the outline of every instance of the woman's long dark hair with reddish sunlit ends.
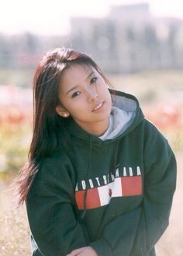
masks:
<path fill-rule="evenodd" d="M 33 79 L 33 139 L 30 144 L 28 161 L 16 180 L 17 203 L 21 205 L 29 193 L 38 171 L 40 160 L 60 147 L 60 132 L 64 131 L 64 118 L 56 112 L 60 104 L 58 87 L 63 71 L 73 64 L 89 65 L 109 80 L 87 54 L 70 48 L 56 48 L 48 51 L 36 68 Z"/>

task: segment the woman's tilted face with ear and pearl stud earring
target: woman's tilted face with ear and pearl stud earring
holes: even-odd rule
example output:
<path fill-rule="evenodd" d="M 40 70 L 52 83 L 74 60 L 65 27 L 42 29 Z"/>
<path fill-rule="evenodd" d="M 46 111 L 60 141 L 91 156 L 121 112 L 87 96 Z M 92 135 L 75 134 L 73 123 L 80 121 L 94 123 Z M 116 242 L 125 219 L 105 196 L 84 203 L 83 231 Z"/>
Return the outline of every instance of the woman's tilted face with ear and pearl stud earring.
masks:
<path fill-rule="evenodd" d="M 57 114 L 71 115 L 86 132 L 102 135 L 109 126 L 112 100 L 105 80 L 89 65 L 65 69 L 59 85 Z"/>

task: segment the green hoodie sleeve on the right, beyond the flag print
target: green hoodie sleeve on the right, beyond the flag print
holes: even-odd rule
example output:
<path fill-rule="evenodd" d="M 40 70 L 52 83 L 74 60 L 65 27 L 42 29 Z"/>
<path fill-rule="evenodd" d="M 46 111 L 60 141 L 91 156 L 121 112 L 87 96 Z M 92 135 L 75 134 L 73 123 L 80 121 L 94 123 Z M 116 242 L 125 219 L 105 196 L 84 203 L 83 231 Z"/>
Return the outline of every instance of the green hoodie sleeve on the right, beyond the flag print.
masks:
<path fill-rule="evenodd" d="M 143 204 L 105 226 L 101 240 L 91 244 L 99 256 L 147 256 L 167 228 L 176 161 L 167 140 L 148 122 L 145 137 Z"/>

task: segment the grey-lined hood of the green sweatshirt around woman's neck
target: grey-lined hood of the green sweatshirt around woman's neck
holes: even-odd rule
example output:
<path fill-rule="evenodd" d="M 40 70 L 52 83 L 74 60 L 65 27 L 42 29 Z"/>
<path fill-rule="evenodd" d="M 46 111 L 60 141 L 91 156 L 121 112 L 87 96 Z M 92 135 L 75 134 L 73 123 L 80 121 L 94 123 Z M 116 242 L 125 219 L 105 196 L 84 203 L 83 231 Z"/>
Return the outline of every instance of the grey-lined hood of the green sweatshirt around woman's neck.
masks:
<path fill-rule="evenodd" d="M 112 111 L 109 128 L 104 135 L 97 137 L 85 132 L 72 118 L 67 120 L 67 131 L 71 136 L 92 143 L 108 143 L 132 132 L 144 116 L 135 96 L 109 89 L 112 96 Z"/>

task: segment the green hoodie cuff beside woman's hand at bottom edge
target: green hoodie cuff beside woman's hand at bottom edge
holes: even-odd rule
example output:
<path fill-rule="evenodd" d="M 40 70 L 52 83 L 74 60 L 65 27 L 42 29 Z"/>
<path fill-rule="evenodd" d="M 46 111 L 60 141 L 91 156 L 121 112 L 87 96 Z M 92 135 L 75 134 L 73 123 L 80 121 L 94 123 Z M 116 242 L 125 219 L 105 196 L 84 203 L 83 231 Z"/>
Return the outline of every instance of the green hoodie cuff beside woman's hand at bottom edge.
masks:
<path fill-rule="evenodd" d="M 98 256 L 112 256 L 112 248 L 105 239 L 96 240 L 89 244 L 98 254 Z"/>

